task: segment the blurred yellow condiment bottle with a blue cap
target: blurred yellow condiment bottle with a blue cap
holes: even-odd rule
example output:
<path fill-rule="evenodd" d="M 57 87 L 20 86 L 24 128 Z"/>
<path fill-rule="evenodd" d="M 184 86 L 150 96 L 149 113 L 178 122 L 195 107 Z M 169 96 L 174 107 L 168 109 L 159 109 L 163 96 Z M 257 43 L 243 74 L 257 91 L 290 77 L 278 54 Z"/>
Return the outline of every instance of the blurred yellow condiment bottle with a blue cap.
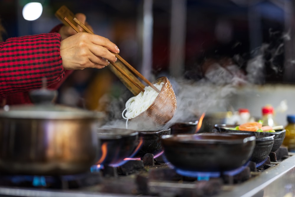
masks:
<path fill-rule="evenodd" d="M 288 147 L 290 152 L 295 152 L 295 115 L 287 116 L 288 124 L 286 125 L 286 135 L 283 145 Z"/>

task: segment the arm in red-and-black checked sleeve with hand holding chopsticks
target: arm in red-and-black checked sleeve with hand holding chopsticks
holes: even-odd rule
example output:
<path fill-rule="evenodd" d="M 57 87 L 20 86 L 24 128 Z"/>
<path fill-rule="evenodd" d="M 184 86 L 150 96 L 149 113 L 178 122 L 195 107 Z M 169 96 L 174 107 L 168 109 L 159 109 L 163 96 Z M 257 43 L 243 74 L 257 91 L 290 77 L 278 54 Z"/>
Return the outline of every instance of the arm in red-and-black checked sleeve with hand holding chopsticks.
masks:
<path fill-rule="evenodd" d="M 76 17 L 83 21 L 79 15 Z M 10 38 L 0 42 L 0 96 L 6 96 L 7 104 L 30 103 L 28 91 L 41 88 L 42 78 L 47 79 L 49 89 L 57 89 L 72 70 L 103 68 L 108 60 L 116 61 L 117 58 L 110 51 L 118 53 L 119 49 L 108 39 L 76 32 L 72 32 L 75 35 L 71 36 L 71 32 L 65 32 L 73 29 L 68 27 L 62 30 L 62 27 L 58 25 L 51 31 L 69 36 L 67 39 L 67 36 L 63 36 L 62 43 L 57 33 Z M 30 42 L 23 45 L 26 40 Z"/>

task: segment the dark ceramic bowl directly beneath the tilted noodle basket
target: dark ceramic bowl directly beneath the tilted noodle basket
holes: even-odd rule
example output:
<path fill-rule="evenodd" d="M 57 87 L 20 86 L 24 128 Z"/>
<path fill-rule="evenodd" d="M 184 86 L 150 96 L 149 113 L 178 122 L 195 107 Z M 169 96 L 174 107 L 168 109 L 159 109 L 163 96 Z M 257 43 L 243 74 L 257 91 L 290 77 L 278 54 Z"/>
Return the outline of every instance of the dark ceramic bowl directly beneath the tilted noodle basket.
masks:
<path fill-rule="evenodd" d="M 151 153 L 154 156 L 163 151 L 161 136 L 169 135 L 171 129 L 151 130 L 151 131 L 138 131 L 138 143 L 142 142 L 139 150 L 134 157 L 143 157 L 146 153 Z M 137 143 L 137 145 L 138 145 Z"/>

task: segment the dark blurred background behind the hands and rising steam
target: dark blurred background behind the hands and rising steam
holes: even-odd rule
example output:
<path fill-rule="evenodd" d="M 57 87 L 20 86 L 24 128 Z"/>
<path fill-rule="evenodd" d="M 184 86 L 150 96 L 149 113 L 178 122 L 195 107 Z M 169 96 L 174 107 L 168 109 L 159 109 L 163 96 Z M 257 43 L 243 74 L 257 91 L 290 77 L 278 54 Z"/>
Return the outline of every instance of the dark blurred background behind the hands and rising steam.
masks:
<path fill-rule="evenodd" d="M 31 2 L 40 3 L 42 13 L 26 20 L 23 9 Z M 122 58 L 150 81 L 167 76 L 179 109 L 193 105 L 199 115 L 248 108 L 260 116 L 265 104 L 288 103 L 278 113 L 281 124 L 295 113 L 294 1 L 1 0 L 4 40 L 50 32 L 60 24 L 55 12 L 62 5 L 86 14 L 94 33 L 116 43 Z M 108 68 L 84 69 L 60 87 L 58 102 L 122 112 L 131 96 Z"/>

